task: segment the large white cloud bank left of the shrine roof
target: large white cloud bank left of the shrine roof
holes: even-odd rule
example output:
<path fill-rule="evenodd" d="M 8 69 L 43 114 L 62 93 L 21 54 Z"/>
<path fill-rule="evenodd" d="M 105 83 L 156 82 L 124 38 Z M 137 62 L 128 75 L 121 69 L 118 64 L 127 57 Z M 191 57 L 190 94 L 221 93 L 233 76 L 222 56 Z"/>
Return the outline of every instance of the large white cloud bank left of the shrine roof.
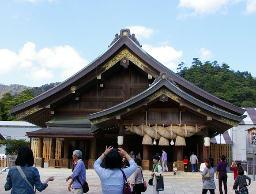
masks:
<path fill-rule="evenodd" d="M 88 64 L 68 45 L 43 48 L 39 52 L 35 48 L 34 43 L 27 42 L 17 54 L 8 49 L 0 50 L 0 74 L 20 69 L 32 80 L 43 80 L 53 78 L 53 71 L 57 70 L 61 78 L 66 79 Z"/>

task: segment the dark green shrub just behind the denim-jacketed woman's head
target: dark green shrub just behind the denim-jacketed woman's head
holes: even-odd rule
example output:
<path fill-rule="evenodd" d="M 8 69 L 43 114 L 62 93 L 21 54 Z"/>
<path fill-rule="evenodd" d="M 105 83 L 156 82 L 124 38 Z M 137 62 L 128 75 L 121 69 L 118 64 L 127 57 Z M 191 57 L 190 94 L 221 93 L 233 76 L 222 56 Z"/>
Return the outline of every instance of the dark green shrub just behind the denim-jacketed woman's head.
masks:
<path fill-rule="evenodd" d="M 6 155 L 18 155 L 19 153 L 19 149 L 22 146 L 30 146 L 29 142 L 26 142 L 25 139 L 5 139 L 3 141 L 0 142 L 0 146 L 6 146 L 5 147 L 5 154 Z"/>

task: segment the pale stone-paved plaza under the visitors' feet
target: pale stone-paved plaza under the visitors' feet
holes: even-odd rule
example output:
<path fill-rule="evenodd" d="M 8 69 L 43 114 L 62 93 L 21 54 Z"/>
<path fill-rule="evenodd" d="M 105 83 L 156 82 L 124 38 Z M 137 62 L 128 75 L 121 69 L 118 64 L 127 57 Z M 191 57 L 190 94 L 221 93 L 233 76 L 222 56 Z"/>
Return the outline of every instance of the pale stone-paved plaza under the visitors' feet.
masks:
<path fill-rule="evenodd" d="M 54 170 L 56 171 L 56 170 Z M 89 170 L 93 171 L 93 170 Z M 89 174 L 89 173 L 88 173 Z M 4 191 L 4 184 L 6 182 L 5 178 L 7 172 L 0 174 L 0 194 L 10 194 L 10 191 Z M 49 175 L 50 176 L 50 175 Z M 41 181 L 45 181 L 48 176 L 41 175 Z M 68 192 L 68 183 L 66 182 L 66 175 L 57 175 L 53 182 L 49 182 L 49 186 L 42 192 L 42 194 L 71 194 Z M 145 177 L 146 178 L 146 177 Z M 146 178 L 148 180 L 149 177 Z M 97 175 L 87 175 L 87 182 L 89 184 L 90 190 L 88 194 L 101 194 L 101 184 Z M 215 180 L 217 189 L 215 194 L 219 194 L 218 191 L 218 180 Z M 228 194 L 234 194 L 232 190 L 233 186 L 233 176 L 228 178 Z M 192 180 L 192 179 L 164 179 L 165 191 L 160 191 L 159 194 L 201 194 L 202 193 L 202 180 Z M 251 186 L 248 187 L 250 194 L 256 194 L 256 181 L 252 181 Z M 37 191 L 39 194 L 39 192 Z M 145 194 L 152 193 L 152 186 L 147 187 Z M 209 192 L 208 192 L 209 193 Z M 114 191 L 113 191 L 114 194 Z"/>

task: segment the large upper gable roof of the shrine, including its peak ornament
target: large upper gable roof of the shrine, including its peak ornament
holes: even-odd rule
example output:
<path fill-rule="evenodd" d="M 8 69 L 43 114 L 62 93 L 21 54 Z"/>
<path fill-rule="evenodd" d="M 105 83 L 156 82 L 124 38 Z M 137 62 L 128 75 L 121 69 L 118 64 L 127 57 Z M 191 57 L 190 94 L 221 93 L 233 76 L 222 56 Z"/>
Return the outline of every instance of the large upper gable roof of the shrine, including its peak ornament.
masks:
<path fill-rule="evenodd" d="M 126 32 L 126 34 L 124 34 Z M 52 89 L 42 93 L 38 97 L 31 99 L 30 101 L 26 101 L 23 104 L 19 104 L 15 107 L 10 108 L 12 114 L 18 114 L 20 112 L 30 110 L 34 108 L 33 111 L 37 112 L 38 110 L 45 109 L 49 106 L 49 104 L 53 104 L 56 101 L 60 101 L 64 97 L 67 97 L 69 94 L 74 93 L 75 90 L 83 87 L 85 84 L 90 82 L 91 80 L 95 79 L 98 75 L 88 75 L 91 71 L 95 70 L 95 68 L 99 68 L 103 66 L 105 63 L 108 62 L 110 57 L 113 57 L 120 52 L 121 49 L 127 48 L 129 52 L 132 52 L 136 55 L 136 57 L 143 61 L 143 63 L 147 64 L 148 66 L 152 67 L 154 70 L 158 72 L 158 74 L 149 71 L 150 75 L 154 78 L 160 74 L 160 72 L 167 72 L 167 77 L 172 77 L 173 81 L 177 83 L 178 86 L 189 90 L 191 93 L 194 93 L 195 96 L 198 98 L 203 98 L 209 102 L 209 104 L 215 104 L 219 108 L 222 108 L 226 111 L 231 112 L 234 115 L 241 116 L 245 110 L 239 108 L 233 104 L 230 104 L 226 101 L 219 99 L 211 95 L 210 93 L 205 92 L 204 90 L 200 89 L 199 87 L 193 85 L 192 83 L 188 82 L 181 76 L 177 75 L 173 71 L 169 70 L 165 67 L 162 63 L 159 63 L 155 60 L 152 56 L 150 56 L 147 52 L 145 52 L 139 45 L 138 41 L 135 38 L 134 34 L 130 34 L 129 29 L 122 29 L 120 31 L 120 36 L 116 36 L 114 41 L 111 43 L 109 49 L 104 52 L 102 55 L 98 56 L 94 61 L 84 67 L 82 70 L 77 72 L 75 75 L 71 76 L 70 78 L 66 79 L 64 82 L 60 83 L 59 85 L 53 87 Z M 104 71 L 107 71 L 108 68 L 105 67 Z M 102 70 L 103 71 L 103 70 Z M 146 70 L 145 70 L 146 71 Z M 98 71 L 100 75 L 102 72 Z M 87 82 L 79 82 L 81 78 L 84 76 L 88 76 Z M 40 106 L 38 105 L 40 103 Z M 41 110 L 42 111 L 42 110 Z M 21 116 L 23 118 L 23 116 Z M 19 119 L 17 117 L 17 119 Z M 49 116 L 49 119 L 52 119 Z"/>

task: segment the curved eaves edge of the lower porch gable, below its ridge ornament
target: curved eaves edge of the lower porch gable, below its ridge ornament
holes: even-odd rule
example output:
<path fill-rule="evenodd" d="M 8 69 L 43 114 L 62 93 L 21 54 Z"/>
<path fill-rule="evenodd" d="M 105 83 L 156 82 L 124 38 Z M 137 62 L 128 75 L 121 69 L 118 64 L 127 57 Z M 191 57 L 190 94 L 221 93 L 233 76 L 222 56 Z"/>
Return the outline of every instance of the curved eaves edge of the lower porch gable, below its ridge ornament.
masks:
<path fill-rule="evenodd" d="M 229 121 L 228 124 L 230 125 L 238 125 L 238 123 L 243 119 L 241 116 L 233 115 L 229 112 L 224 112 L 215 108 L 209 104 L 204 103 L 192 97 L 188 93 L 185 93 L 183 90 L 180 90 L 177 86 L 175 86 L 172 82 L 167 79 L 160 79 L 156 82 L 153 86 L 148 88 L 147 90 L 139 93 L 135 97 L 130 98 L 123 103 L 117 104 L 111 108 L 105 109 L 101 112 L 97 112 L 91 115 L 88 115 L 87 118 L 91 121 L 92 124 L 95 124 L 100 121 L 104 121 L 107 119 L 113 119 L 113 115 L 117 115 L 118 112 L 129 112 L 132 111 L 130 108 L 132 104 L 136 104 L 143 99 L 147 99 L 148 101 L 152 101 L 156 97 L 161 96 L 162 94 L 166 94 L 166 96 L 170 97 L 171 99 L 179 102 L 181 99 L 189 102 L 193 106 L 197 107 L 198 112 L 205 110 L 205 112 L 211 112 L 215 115 L 218 115 L 220 118 L 219 121 L 226 122 L 225 119 L 231 119 L 233 121 Z M 97 121 L 96 121 L 97 120 Z M 227 123 L 227 122 L 226 122 Z"/>

